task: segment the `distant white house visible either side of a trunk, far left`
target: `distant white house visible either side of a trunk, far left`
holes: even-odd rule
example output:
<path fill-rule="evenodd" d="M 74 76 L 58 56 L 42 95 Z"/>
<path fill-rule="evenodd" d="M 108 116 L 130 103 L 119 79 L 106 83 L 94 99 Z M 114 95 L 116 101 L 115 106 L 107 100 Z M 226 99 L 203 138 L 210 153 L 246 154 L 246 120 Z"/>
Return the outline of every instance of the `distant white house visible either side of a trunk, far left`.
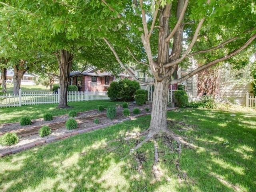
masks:
<path fill-rule="evenodd" d="M 13 79 L 12 79 L 13 76 L 14 76 L 14 73 L 11 70 L 7 70 L 6 82 L 7 83 L 12 83 L 13 82 Z M 22 77 L 21 85 L 35 85 L 35 81 L 37 81 L 38 78 L 39 78 L 39 76 L 37 76 L 35 74 L 25 73 Z"/>

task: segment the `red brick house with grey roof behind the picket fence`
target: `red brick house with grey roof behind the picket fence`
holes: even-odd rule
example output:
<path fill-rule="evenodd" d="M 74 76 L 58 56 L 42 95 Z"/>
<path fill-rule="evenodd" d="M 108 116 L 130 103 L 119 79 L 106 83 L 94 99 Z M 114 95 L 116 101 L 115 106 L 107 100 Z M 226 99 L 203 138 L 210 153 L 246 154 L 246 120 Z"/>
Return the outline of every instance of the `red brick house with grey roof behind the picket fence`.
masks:
<path fill-rule="evenodd" d="M 133 74 L 134 71 L 129 68 Z M 114 76 L 110 72 L 100 72 L 97 68 L 93 68 L 84 72 L 72 72 L 70 73 L 70 85 L 78 86 L 79 91 L 107 91 L 110 83 L 113 81 L 123 80 L 128 78 L 132 80 L 129 74 L 121 73 L 118 76 Z"/>

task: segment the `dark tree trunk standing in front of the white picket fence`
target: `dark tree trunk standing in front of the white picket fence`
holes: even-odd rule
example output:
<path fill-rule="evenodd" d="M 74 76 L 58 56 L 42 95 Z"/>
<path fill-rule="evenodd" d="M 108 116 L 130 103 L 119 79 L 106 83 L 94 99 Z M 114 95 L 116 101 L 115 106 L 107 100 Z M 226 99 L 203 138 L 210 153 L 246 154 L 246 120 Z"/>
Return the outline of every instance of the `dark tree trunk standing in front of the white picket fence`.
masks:
<path fill-rule="evenodd" d="M 60 102 L 58 108 L 69 108 L 68 106 L 68 82 L 70 70 L 72 66 L 73 55 L 66 51 L 60 50 L 60 59 L 58 53 L 56 54 L 58 64 L 60 67 Z"/>

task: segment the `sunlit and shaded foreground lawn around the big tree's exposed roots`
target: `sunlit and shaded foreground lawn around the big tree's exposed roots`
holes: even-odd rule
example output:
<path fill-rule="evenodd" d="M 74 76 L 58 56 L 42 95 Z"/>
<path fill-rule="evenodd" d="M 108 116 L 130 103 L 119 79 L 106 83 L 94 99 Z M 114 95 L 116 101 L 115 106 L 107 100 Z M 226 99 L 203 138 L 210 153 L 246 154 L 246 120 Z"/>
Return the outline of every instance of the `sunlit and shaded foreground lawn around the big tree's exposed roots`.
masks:
<path fill-rule="evenodd" d="M 144 137 L 124 139 L 148 128 L 145 116 L 1 158 L 0 190 L 256 191 L 256 112 L 183 109 L 168 112 L 168 121 L 195 148 L 182 146 L 179 159 L 177 143 L 157 137 L 159 180 L 154 142 L 134 155 L 130 149 Z"/>

